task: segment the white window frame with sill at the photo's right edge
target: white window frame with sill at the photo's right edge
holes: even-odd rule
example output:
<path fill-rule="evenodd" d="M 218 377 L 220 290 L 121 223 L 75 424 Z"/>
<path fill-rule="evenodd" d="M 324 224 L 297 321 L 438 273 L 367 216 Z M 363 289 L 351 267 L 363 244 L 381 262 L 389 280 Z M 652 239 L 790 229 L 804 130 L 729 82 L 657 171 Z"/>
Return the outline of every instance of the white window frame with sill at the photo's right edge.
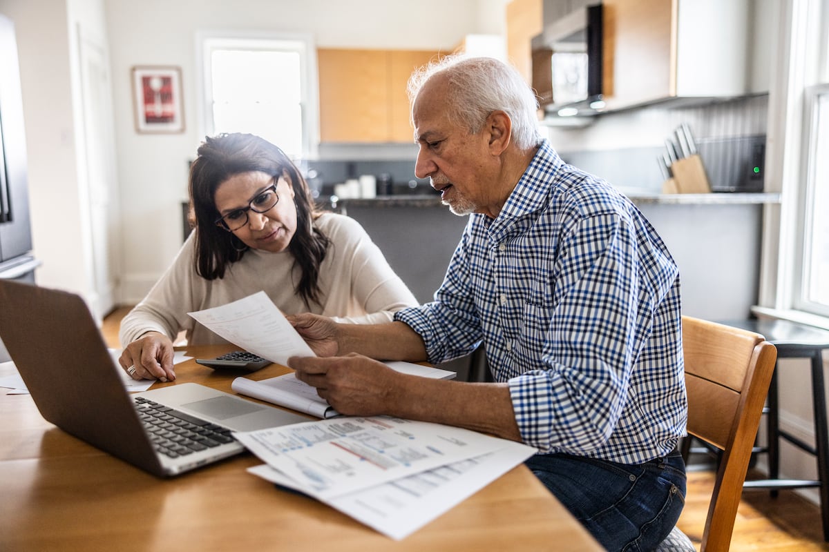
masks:
<path fill-rule="evenodd" d="M 807 90 L 829 84 L 829 2 L 782 0 L 769 83 L 766 190 L 779 204 L 764 208 L 763 260 L 754 314 L 829 329 L 829 312 L 801 300 L 810 151 Z M 819 45 L 815 48 L 814 45 Z"/>

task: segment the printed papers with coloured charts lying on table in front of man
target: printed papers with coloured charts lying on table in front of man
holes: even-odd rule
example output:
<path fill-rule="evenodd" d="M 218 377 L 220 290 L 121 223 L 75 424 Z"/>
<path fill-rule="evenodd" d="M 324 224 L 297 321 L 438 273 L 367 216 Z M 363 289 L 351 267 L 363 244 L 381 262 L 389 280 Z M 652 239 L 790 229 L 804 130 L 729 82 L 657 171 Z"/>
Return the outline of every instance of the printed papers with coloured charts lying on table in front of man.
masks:
<path fill-rule="evenodd" d="M 234 436 L 265 462 L 250 473 L 395 540 L 536 454 L 515 441 L 390 416 L 339 417 Z"/>

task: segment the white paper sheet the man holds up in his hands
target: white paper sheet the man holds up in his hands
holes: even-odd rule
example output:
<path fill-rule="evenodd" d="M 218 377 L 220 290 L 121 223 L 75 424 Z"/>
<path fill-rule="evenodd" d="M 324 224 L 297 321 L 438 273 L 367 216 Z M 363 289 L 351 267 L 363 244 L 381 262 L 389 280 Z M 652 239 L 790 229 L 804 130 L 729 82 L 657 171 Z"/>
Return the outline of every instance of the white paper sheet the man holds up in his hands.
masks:
<path fill-rule="evenodd" d="M 287 366 L 290 357 L 316 356 L 264 291 L 187 314 L 230 343 L 270 362 Z"/>

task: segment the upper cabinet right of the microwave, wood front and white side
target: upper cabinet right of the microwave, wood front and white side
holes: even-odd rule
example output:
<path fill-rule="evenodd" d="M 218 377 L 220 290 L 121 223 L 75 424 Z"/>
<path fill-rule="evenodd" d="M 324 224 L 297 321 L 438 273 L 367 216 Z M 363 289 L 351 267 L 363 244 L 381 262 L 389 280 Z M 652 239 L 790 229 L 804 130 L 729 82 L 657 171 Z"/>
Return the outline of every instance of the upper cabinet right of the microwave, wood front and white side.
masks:
<path fill-rule="evenodd" d="M 608 110 L 748 94 L 749 0 L 604 0 Z"/>

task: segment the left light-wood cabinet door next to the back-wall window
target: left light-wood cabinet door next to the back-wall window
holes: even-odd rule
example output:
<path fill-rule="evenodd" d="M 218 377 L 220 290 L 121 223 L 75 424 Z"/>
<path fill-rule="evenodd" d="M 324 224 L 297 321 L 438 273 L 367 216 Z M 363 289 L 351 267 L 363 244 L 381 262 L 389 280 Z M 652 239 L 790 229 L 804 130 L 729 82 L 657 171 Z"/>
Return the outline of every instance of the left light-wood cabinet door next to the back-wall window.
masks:
<path fill-rule="evenodd" d="M 385 50 L 317 50 L 321 142 L 388 140 L 387 54 Z"/>

